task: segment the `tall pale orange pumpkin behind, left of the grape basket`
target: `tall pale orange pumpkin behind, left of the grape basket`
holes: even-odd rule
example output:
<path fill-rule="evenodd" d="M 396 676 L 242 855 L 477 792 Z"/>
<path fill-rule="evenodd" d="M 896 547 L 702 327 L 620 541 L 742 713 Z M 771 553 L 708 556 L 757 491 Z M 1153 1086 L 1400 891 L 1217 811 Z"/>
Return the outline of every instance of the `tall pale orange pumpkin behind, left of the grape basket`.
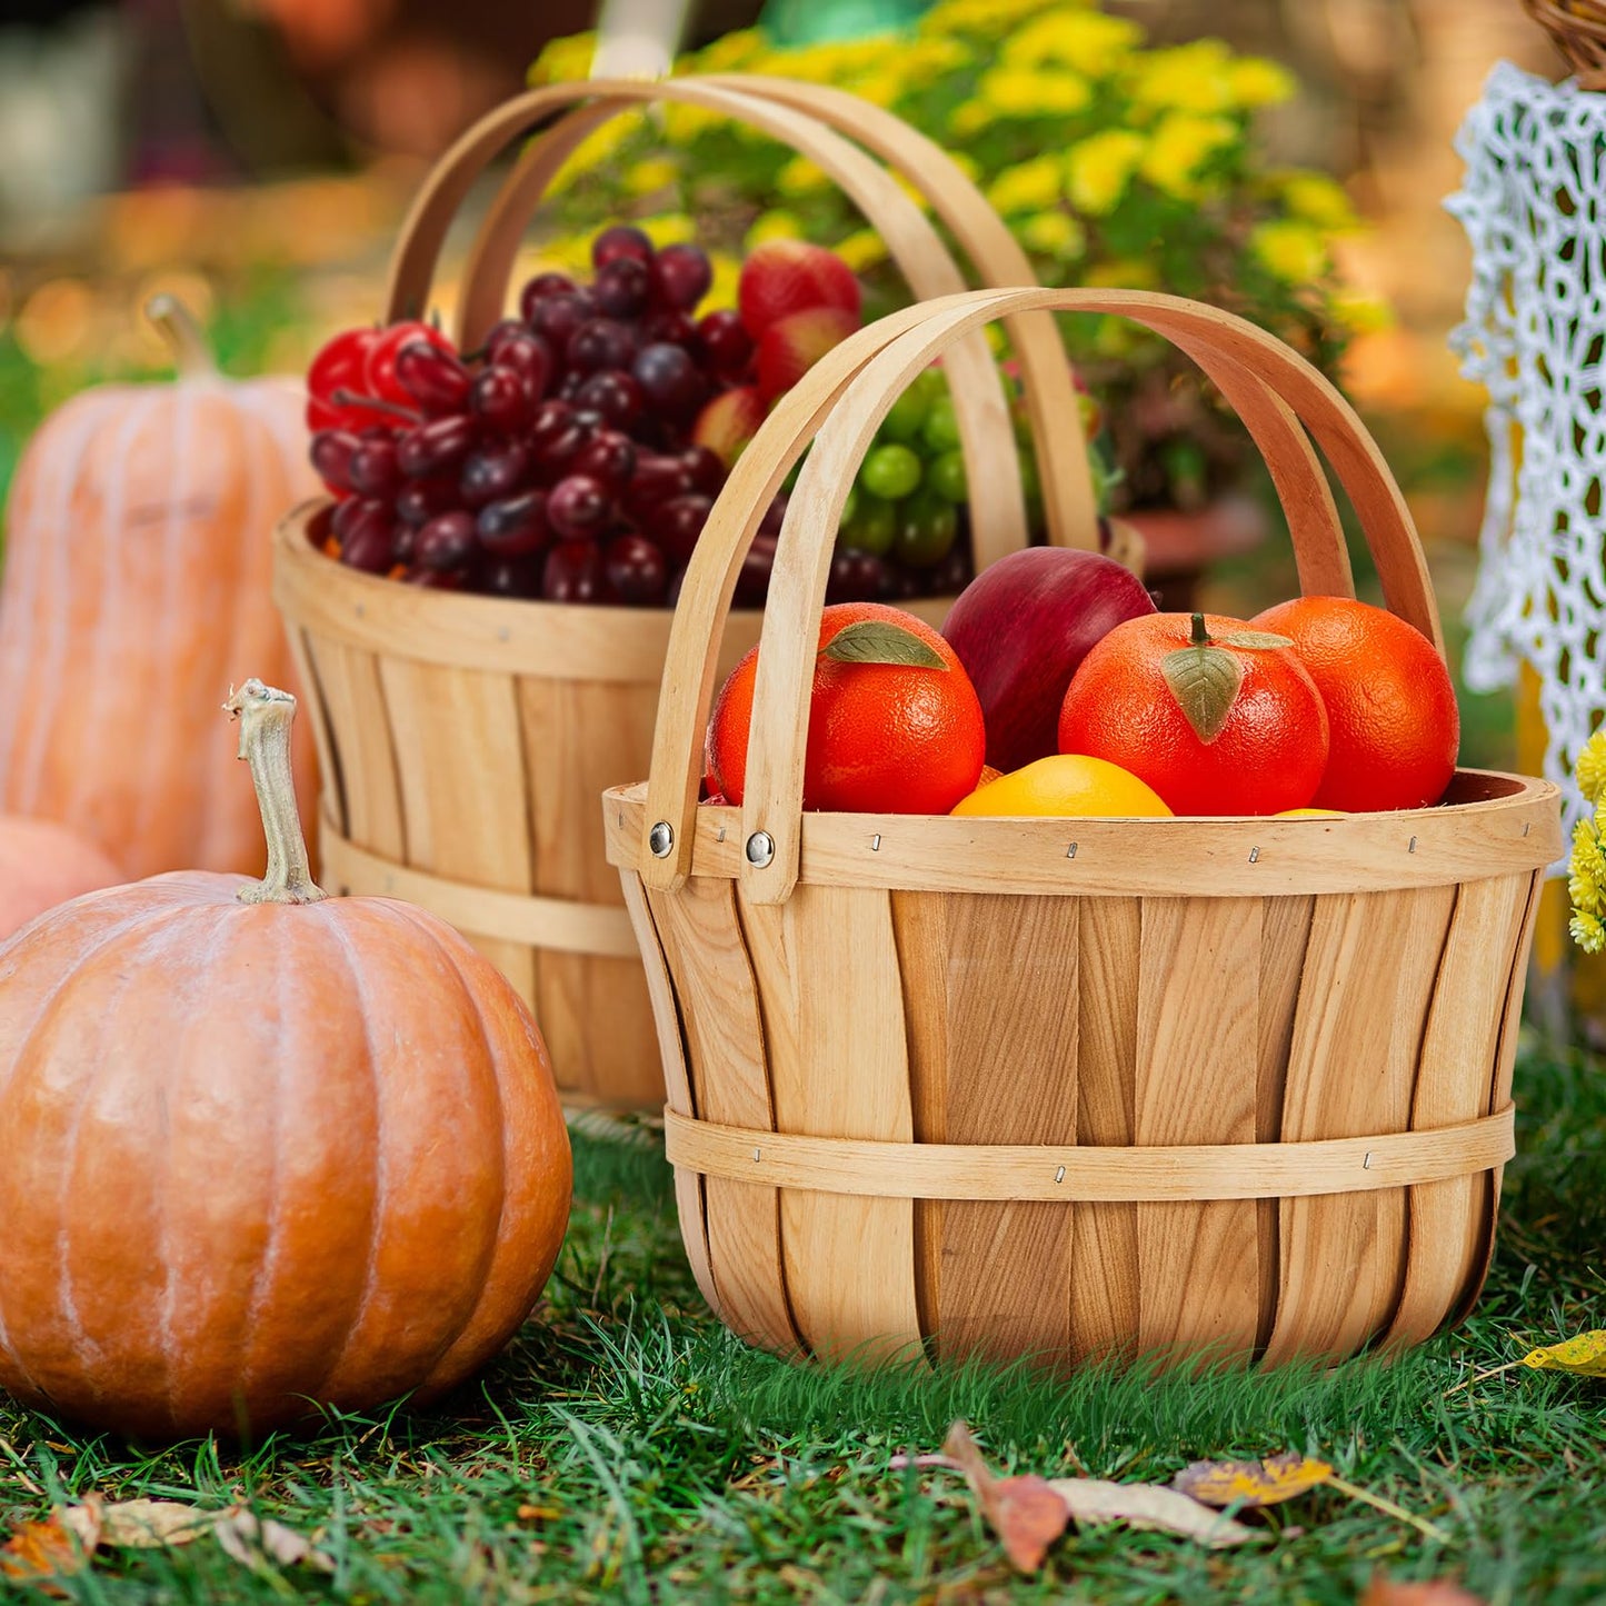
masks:
<path fill-rule="evenodd" d="M 178 350 L 177 382 L 82 392 L 18 464 L 0 585 L 0 809 L 64 821 L 128 875 L 255 872 L 260 827 L 249 795 L 220 779 L 228 732 L 212 692 L 246 668 L 294 684 L 268 575 L 275 524 L 318 488 L 304 393 L 225 379 L 169 297 L 151 316 Z M 153 695 L 167 711 L 141 719 Z"/>

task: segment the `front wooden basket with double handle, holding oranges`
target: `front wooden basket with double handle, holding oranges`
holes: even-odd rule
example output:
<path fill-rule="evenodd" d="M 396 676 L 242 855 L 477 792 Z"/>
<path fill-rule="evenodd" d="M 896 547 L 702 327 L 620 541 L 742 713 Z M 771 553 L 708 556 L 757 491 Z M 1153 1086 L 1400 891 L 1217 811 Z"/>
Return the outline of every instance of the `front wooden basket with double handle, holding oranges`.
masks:
<path fill-rule="evenodd" d="M 782 1352 L 1286 1360 L 1423 1339 L 1492 1246 L 1553 785 L 1461 771 L 1437 808 L 1296 821 L 801 811 L 845 488 L 931 357 L 1028 308 L 1124 315 L 1188 352 L 1266 454 L 1302 588 L 1352 596 L 1314 438 L 1388 605 L 1439 644 L 1376 446 L 1249 323 L 1156 294 L 976 292 L 882 329 L 856 377 L 816 369 L 686 577 L 650 779 L 604 798 L 692 1267 Z M 811 435 L 747 797 L 699 806 L 710 642 Z"/>

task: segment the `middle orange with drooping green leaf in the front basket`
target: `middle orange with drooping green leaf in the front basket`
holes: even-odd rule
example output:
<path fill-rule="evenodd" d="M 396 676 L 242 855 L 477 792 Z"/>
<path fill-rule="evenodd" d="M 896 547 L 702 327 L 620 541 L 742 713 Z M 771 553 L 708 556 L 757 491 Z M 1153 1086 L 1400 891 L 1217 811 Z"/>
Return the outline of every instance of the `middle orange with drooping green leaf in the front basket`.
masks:
<path fill-rule="evenodd" d="M 1277 814 L 1315 795 L 1327 713 L 1294 652 L 1243 620 L 1148 613 L 1082 658 L 1060 752 L 1129 769 L 1177 814 Z"/>

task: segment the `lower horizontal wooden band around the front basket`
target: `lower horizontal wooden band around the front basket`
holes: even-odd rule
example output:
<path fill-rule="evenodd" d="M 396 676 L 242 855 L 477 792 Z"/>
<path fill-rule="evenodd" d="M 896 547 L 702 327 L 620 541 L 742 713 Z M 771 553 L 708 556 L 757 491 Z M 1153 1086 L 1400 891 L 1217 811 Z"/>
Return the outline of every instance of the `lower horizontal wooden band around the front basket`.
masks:
<path fill-rule="evenodd" d="M 675 1166 L 772 1188 L 866 1198 L 1135 1201 L 1264 1200 L 1447 1182 L 1516 1153 L 1516 1108 L 1418 1132 L 1290 1143 L 1095 1148 L 888 1143 L 699 1121 L 665 1107 Z"/>

